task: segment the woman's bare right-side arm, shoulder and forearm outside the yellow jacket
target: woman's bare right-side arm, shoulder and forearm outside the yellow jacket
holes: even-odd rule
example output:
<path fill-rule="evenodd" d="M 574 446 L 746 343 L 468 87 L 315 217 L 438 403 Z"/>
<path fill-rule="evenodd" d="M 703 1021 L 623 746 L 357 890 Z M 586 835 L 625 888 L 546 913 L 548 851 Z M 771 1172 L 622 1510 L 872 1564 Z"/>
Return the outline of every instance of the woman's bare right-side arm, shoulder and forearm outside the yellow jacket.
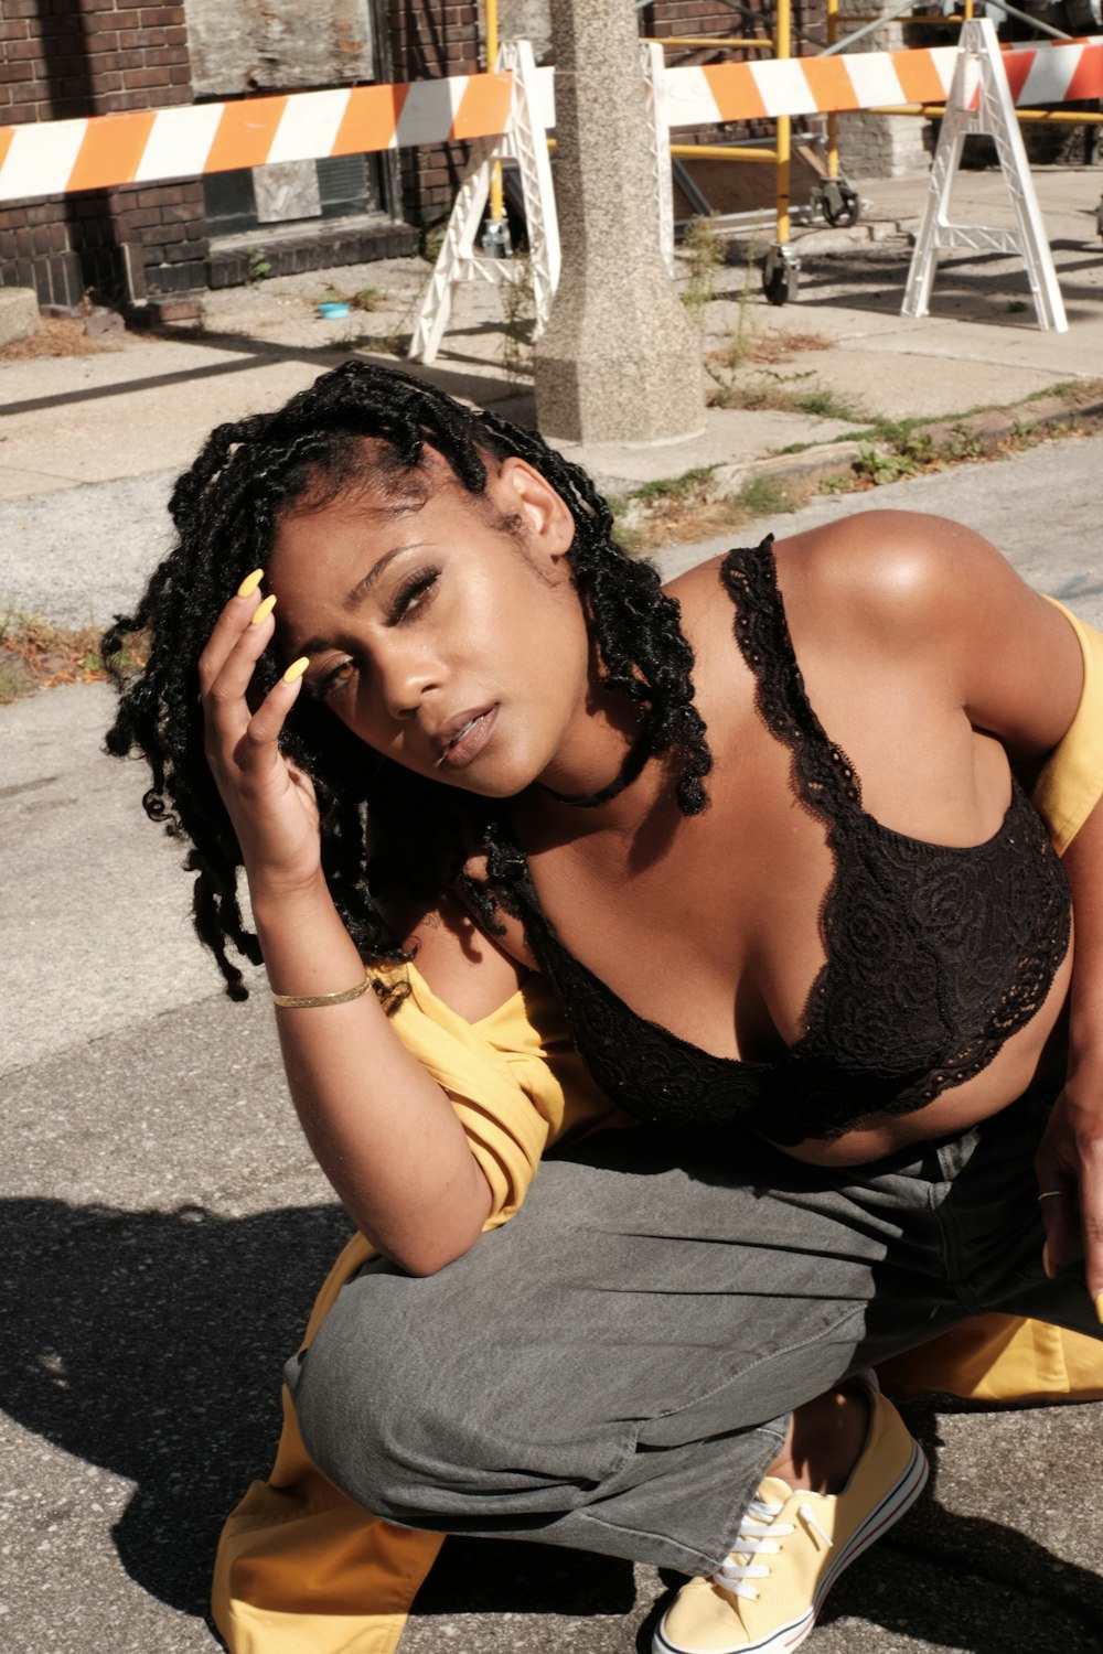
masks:
<path fill-rule="evenodd" d="M 814 576 L 828 605 L 858 615 L 855 648 L 921 653 L 977 729 L 1012 762 L 1032 764 L 1063 738 L 1080 706 L 1083 655 L 1060 609 L 1034 592 L 979 534 L 913 513 L 848 519 Z M 855 620 L 850 620 L 855 627 Z M 1103 1320 L 1103 802 L 1065 853 L 1075 966 L 1068 1077 L 1037 1158 L 1050 1267 L 1080 1232 L 1088 1290 Z"/>

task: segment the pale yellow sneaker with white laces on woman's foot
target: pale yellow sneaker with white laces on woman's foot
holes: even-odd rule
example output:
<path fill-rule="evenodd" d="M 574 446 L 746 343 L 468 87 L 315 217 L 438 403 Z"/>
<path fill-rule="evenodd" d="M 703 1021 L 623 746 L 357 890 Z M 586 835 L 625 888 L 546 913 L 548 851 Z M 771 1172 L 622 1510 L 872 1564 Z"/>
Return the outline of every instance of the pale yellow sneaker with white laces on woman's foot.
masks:
<path fill-rule="evenodd" d="M 890 1401 L 868 1391 L 865 1446 L 840 1494 L 794 1492 L 767 1475 L 736 1548 L 708 1580 L 683 1585 L 652 1654 L 787 1654 L 804 1642 L 848 1563 L 916 1502 L 923 1449 Z"/>

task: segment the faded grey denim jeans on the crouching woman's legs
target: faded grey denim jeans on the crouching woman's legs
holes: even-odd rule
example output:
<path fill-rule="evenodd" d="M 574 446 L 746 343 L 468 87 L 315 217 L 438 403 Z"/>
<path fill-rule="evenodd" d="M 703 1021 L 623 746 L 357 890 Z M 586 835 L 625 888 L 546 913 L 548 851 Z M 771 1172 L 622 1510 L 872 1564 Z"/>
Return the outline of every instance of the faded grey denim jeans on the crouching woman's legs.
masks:
<path fill-rule="evenodd" d="M 984 1310 L 1103 1335 L 1042 1270 L 1052 1090 L 868 1166 L 734 1128 L 605 1131 L 438 1275 L 370 1264 L 286 1379 L 306 1446 L 394 1522 L 709 1573 L 792 1408 Z"/>

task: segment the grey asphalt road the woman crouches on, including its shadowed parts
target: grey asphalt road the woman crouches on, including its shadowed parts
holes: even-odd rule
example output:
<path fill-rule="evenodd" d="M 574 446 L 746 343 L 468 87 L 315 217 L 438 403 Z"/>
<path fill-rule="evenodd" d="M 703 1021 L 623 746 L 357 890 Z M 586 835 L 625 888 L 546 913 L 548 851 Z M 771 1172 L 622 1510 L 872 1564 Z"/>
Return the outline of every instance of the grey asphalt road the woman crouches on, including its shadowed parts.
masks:
<path fill-rule="evenodd" d="M 1068 440 L 762 531 L 941 511 L 1100 624 L 1100 475 L 1103 438 Z M 165 524 L 160 478 L 5 503 L 0 600 L 106 620 Z M 107 711 L 101 686 L 0 708 L 5 1654 L 215 1647 L 218 1523 L 270 1460 L 279 1365 L 347 1229 L 299 1138 L 263 997 L 220 992 L 187 926 L 180 850 L 141 812 L 141 771 L 99 753 Z M 1098 1654 L 1098 1411 L 921 1406 L 913 1422 L 936 1449 L 934 1490 L 847 1575 L 810 1649 Z M 456 1545 L 403 1654 L 630 1654 L 663 1588 L 627 1563 Z"/>

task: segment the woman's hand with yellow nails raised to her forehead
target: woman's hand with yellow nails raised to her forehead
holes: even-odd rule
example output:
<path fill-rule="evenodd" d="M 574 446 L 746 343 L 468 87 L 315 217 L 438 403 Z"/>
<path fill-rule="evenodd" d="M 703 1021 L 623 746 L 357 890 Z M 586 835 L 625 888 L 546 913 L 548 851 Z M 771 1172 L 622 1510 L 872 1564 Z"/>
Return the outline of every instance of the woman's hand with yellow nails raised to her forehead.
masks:
<path fill-rule="evenodd" d="M 304 890 L 321 875 L 319 817 L 309 777 L 279 751 L 301 673 L 293 681 L 281 678 L 256 711 L 250 708 L 253 672 L 275 632 L 276 599 L 261 602 L 258 586 L 260 571 L 218 615 L 198 657 L 198 683 L 207 762 L 238 835 L 250 887 L 255 895 L 258 885 L 281 895 Z"/>

